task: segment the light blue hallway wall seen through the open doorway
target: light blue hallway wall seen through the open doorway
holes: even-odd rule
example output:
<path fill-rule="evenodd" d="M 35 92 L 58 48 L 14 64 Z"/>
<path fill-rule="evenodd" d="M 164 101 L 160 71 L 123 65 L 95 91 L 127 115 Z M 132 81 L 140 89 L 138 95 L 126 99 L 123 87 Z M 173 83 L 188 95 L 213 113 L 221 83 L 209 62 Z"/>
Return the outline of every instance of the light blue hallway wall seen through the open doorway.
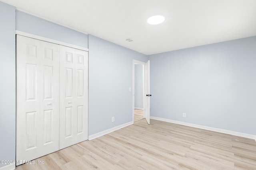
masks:
<path fill-rule="evenodd" d="M 134 89 L 134 107 L 143 108 L 143 65 L 136 64 L 135 72 L 135 89 Z"/>

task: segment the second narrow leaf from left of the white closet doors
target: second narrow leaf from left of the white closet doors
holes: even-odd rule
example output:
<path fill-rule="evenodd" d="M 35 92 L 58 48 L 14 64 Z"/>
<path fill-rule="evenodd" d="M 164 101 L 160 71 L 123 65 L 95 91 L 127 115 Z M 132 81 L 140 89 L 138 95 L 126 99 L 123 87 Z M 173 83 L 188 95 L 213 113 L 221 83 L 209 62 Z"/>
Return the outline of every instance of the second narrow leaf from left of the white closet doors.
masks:
<path fill-rule="evenodd" d="M 41 153 L 59 150 L 59 45 L 40 41 L 42 84 L 40 120 L 42 122 Z"/>

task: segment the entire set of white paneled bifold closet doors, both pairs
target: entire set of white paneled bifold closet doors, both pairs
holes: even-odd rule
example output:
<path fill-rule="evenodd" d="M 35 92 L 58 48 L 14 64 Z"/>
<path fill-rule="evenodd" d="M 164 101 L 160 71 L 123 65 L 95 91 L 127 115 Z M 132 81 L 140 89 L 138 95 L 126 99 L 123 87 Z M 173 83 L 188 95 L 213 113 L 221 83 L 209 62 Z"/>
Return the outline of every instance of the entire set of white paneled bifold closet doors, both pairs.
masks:
<path fill-rule="evenodd" d="M 86 141 L 88 52 L 20 35 L 16 51 L 16 160 Z"/>

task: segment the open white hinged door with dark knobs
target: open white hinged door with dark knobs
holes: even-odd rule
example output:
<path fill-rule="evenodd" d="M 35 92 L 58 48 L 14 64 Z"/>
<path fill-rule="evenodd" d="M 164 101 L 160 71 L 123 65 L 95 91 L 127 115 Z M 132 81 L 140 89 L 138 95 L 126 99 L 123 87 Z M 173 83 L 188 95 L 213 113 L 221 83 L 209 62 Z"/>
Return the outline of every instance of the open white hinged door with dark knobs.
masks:
<path fill-rule="evenodd" d="M 149 61 L 144 65 L 144 116 L 150 124 L 150 64 Z"/>

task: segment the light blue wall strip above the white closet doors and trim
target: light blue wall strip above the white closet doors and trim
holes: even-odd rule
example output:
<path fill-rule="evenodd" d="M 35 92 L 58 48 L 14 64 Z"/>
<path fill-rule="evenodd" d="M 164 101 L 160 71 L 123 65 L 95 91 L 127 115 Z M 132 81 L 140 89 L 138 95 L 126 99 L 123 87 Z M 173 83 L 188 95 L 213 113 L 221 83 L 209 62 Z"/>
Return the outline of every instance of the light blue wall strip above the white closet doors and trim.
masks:
<path fill-rule="evenodd" d="M 43 20 L 36 16 L 16 11 L 16 29 L 42 37 L 88 48 L 88 35 Z"/>

